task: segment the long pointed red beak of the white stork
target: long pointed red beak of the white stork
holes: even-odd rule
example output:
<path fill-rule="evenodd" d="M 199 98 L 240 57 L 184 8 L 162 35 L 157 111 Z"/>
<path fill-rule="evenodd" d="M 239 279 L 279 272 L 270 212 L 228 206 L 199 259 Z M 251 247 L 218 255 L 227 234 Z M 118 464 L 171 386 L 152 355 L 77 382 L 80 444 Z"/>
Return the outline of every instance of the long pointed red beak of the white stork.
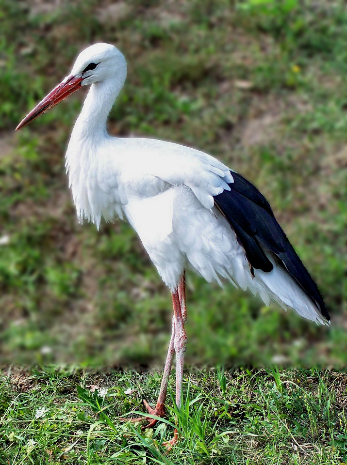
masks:
<path fill-rule="evenodd" d="M 35 118 L 46 113 L 47 110 L 54 107 L 57 103 L 64 100 L 82 88 L 81 82 L 83 78 L 75 78 L 74 76 L 67 76 L 60 84 L 57 85 L 27 116 L 18 124 L 16 131 L 21 127 L 26 126 Z"/>

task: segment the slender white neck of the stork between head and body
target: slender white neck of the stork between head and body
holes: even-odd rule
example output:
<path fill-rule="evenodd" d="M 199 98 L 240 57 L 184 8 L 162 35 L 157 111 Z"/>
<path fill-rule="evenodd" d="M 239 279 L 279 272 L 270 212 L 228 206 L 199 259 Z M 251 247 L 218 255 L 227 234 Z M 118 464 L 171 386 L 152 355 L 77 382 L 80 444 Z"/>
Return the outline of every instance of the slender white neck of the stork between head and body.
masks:
<path fill-rule="evenodd" d="M 125 77 L 107 79 L 92 84 L 84 100 L 80 116 L 77 118 L 73 132 L 79 135 L 93 137 L 103 133 L 106 135 L 106 121 L 115 100 L 120 93 Z"/>

